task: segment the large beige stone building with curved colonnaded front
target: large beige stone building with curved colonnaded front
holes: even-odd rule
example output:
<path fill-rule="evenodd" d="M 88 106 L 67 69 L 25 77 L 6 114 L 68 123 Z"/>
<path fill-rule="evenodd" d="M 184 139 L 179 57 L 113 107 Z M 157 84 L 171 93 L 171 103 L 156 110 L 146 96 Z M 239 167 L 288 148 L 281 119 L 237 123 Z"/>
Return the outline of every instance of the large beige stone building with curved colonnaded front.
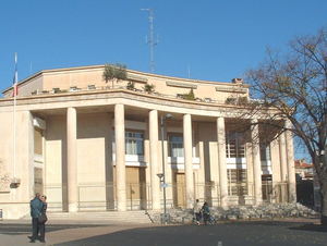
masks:
<path fill-rule="evenodd" d="M 292 136 L 259 144 L 258 119 L 235 113 L 249 100 L 242 79 L 128 70 L 112 88 L 104 67 L 41 71 L 19 83 L 16 99 L 3 90 L 3 218 L 28 214 L 36 192 L 49 211 L 71 212 L 296 201 Z"/>

